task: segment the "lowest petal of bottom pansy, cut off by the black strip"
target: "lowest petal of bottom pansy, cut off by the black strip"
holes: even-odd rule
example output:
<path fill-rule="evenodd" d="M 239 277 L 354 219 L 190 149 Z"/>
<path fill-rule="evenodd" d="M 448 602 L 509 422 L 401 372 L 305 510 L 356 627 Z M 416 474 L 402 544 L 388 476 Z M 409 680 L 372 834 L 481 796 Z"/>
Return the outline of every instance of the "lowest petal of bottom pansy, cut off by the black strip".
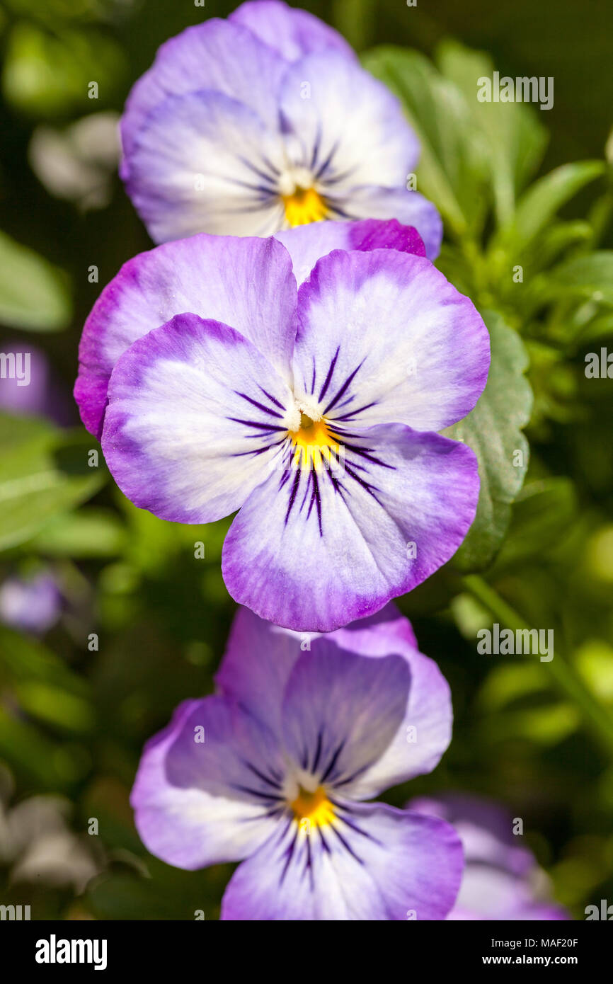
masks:
<path fill-rule="evenodd" d="M 337 810 L 306 834 L 289 824 L 234 872 L 222 920 L 445 919 L 461 846 L 444 821 L 380 803 Z"/>

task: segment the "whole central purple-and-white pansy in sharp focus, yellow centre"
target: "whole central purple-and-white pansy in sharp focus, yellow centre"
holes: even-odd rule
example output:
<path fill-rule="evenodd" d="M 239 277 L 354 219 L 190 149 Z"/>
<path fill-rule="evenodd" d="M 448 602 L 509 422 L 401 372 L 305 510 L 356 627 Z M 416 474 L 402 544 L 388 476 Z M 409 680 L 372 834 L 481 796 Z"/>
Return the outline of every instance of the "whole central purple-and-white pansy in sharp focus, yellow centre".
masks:
<path fill-rule="evenodd" d="M 413 229 L 278 239 L 203 233 L 131 260 L 88 320 L 75 395 L 137 506 L 178 523 L 240 509 L 222 556 L 236 601 L 325 632 L 460 546 L 476 459 L 436 432 L 478 399 L 489 337 Z"/>

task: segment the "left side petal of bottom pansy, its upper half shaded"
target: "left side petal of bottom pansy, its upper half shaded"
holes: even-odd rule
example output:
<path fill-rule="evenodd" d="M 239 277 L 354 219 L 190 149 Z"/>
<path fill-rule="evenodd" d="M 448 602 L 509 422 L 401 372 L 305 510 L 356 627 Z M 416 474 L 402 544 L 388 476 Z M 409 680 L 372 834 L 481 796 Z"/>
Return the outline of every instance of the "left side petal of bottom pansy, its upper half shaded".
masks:
<path fill-rule="evenodd" d="M 204 741 L 196 729 L 204 729 Z M 237 707 L 219 698 L 178 707 L 146 745 L 132 789 L 148 850 L 189 870 L 251 854 L 278 823 L 276 799 L 268 798 L 276 785 L 259 778 L 249 768 L 254 763 L 270 770 L 275 751 L 265 729 Z M 272 774 L 270 780 L 276 782 Z"/>

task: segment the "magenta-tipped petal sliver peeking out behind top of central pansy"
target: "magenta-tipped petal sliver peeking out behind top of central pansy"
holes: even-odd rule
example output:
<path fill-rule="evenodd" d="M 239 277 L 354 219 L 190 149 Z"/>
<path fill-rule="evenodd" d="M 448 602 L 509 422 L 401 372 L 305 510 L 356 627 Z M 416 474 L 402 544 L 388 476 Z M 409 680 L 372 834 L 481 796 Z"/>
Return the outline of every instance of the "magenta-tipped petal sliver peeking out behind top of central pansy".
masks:
<path fill-rule="evenodd" d="M 396 249 L 400 253 L 425 256 L 426 251 L 417 229 L 400 225 L 396 218 L 383 221 L 366 218 L 356 222 L 323 221 L 295 226 L 275 233 L 291 257 L 298 285 L 307 280 L 317 261 L 334 249 Z"/>

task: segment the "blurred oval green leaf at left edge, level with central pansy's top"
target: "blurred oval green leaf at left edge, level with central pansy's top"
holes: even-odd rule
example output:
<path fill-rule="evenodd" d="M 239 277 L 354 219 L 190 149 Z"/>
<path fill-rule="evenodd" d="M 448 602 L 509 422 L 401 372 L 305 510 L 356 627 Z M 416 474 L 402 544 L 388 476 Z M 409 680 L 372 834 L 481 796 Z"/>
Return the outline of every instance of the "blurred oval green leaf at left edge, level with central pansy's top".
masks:
<path fill-rule="evenodd" d="M 66 328 L 72 316 L 66 277 L 0 232 L 0 322 L 32 332 Z"/>

